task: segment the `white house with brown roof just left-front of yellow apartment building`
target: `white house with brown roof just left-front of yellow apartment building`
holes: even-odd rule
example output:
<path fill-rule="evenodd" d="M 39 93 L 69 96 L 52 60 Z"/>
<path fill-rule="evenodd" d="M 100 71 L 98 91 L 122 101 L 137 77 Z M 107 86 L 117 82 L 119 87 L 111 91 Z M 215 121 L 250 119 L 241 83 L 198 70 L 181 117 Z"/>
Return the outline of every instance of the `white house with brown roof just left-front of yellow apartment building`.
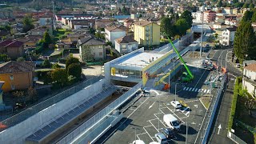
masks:
<path fill-rule="evenodd" d="M 138 42 L 132 36 L 124 36 L 115 40 L 115 50 L 120 54 L 127 54 L 138 50 Z"/>

